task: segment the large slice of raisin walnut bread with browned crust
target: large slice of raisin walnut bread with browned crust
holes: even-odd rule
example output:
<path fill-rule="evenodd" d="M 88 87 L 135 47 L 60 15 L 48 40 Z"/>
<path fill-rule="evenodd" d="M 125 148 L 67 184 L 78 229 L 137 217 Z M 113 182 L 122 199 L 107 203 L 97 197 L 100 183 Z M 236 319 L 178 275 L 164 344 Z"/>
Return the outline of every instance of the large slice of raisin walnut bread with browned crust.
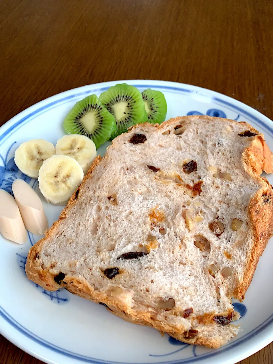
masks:
<path fill-rule="evenodd" d="M 140 124 L 98 157 L 28 255 L 29 279 L 125 320 L 217 348 L 240 330 L 272 232 L 272 154 L 246 123 L 186 116 Z"/>

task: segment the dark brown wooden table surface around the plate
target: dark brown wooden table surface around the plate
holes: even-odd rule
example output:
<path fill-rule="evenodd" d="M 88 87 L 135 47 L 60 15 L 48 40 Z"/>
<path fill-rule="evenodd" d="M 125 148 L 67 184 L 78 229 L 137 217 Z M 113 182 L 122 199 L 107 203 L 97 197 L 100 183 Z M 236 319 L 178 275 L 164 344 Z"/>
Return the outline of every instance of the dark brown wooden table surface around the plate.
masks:
<path fill-rule="evenodd" d="M 209 88 L 273 119 L 272 17 L 262 0 L 1 0 L 0 125 L 59 92 L 122 79 Z M 0 363 L 41 361 L 0 335 Z M 273 363 L 273 345 L 240 363 Z"/>

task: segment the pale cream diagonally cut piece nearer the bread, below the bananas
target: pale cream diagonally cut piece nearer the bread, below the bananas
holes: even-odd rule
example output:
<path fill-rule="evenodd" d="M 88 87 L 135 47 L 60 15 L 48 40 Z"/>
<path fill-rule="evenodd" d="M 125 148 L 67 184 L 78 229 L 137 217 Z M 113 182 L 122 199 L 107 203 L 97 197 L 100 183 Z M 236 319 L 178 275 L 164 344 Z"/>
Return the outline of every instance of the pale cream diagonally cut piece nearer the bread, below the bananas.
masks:
<path fill-rule="evenodd" d="M 43 235 L 48 229 L 48 221 L 40 197 L 20 178 L 15 179 L 11 188 L 27 230 Z"/>

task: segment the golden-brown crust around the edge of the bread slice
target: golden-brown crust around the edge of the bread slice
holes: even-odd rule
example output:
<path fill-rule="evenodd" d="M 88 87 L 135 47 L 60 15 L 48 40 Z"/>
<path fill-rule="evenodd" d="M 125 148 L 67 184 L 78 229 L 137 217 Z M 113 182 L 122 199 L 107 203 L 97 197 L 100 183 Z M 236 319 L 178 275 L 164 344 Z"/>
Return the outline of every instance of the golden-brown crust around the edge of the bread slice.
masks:
<path fill-rule="evenodd" d="M 210 116 L 191 116 L 191 120 L 193 118 L 202 118 L 206 120 L 211 120 L 215 118 L 211 118 Z M 223 123 L 237 123 L 234 120 L 221 119 Z M 166 121 L 165 123 L 158 126 L 151 125 L 149 123 L 141 124 L 146 125 L 149 128 L 162 128 L 163 126 L 173 126 L 179 122 L 179 124 L 186 123 L 189 118 L 187 116 L 177 117 Z M 242 165 L 246 173 L 255 178 L 262 188 L 252 197 L 249 203 L 249 226 L 252 229 L 254 241 L 252 250 L 249 256 L 248 263 L 246 264 L 246 269 L 244 272 L 244 279 L 239 282 L 233 292 L 233 297 L 237 299 L 243 299 L 246 290 L 248 289 L 250 282 L 252 281 L 255 269 L 258 264 L 258 260 L 264 251 L 266 244 L 271 236 L 273 230 L 273 190 L 272 186 L 268 183 L 265 178 L 260 177 L 260 173 L 262 170 L 266 172 L 273 171 L 273 162 L 272 162 L 272 153 L 266 146 L 263 135 L 255 130 L 252 126 L 247 123 L 244 123 L 247 130 L 250 130 L 254 134 L 257 134 L 250 140 L 250 145 L 248 148 L 244 150 L 242 153 Z M 137 128 L 138 126 L 132 126 L 130 130 Z M 117 137 L 119 138 L 119 137 Z M 96 166 L 99 163 L 102 163 L 104 160 L 98 156 L 93 162 L 90 170 L 87 175 L 84 177 L 82 184 L 78 187 L 78 198 L 80 197 L 82 187 L 86 183 L 87 179 L 92 178 L 92 173 L 96 169 Z M 84 278 L 79 279 L 78 277 L 66 276 L 64 281 L 61 282 L 61 285 L 57 284 L 54 280 L 54 276 L 49 272 L 48 269 L 44 269 L 40 266 L 37 261 L 37 257 L 39 257 L 39 252 L 42 249 L 44 241 L 46 241 L 49 237 L 54 234 L 55 229 L 59 226 L 60 222 L 66 218 L 68 211 L 74 205 L 76 199 L 76 192 L 72 195 L 70 201 L 67 206 L 63 209 L 59 220 L 56 221 L 50 229 L 47 230 L 45 237 L 37 242 L 29 251 L 27 264 L 26 264 L 26 273 L 30 280 L 42 286 L 44 289 L 48 290 L 57 290 L 60 286 L 66 288 L 72 293 L 78 294 L 81 297 L 87 298 L 94 302 L 103 302 L 108 306 L 108 309 L 115 313 L 117 316 L 122 317 L 123 319 L 138 323 L 142 325 L 147 325 L 158 329 L 159 331 L 164 331 L 169 333 L 169 335 L 175 337 L 178 340 L 184 341 L 190 344 L 201 344 L 206 345 L 211 348 L 218 348 L 222 344 L 225 343 L 224 340 L 215 339 L 208 340 L 206 337 L 198 335 L 197 337 L 187 340 L 183 337 L 183 328 L 178 329 L 173 325 L 168 325 L 166 323 L 162 323 L 161 321 L 155 320 L 151 313 L 147 312 L 135 312 L 135 310 L 128 309 L 128 306 L 120 302 L 120 300 L 116 300 L 114 297 L 108 297 L 106 294 L 100 294 L 98 291 L 95 291 L 94 288 L 88 284 Z M 209 323 L 205 323 L 204 327 Z M 213 325 L 213 324 L 212 324 Z M 215 325 L 215 324 L 214 324 Z M 234 330 L 233 336 L 236 335 L 236 330 Z"/>

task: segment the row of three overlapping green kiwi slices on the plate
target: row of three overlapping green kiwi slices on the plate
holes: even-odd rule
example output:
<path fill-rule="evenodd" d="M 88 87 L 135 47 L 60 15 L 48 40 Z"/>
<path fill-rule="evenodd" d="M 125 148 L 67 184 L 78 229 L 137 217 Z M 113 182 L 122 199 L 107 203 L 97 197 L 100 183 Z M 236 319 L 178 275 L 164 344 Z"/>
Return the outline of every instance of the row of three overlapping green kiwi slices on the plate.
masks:
<path fill-rule="evenodd" d="M 64 119 L 63 126 L 67 134 L 90 138 L 98 149 L 132 125 L 147 121 L 162 123 L 166 114 L 167 103 L 162 92 L 148 88 L 141 94 L 136 87 L 121 83 L 102 92 L 99 98 L 90 95 L 77 102 Z"/>

